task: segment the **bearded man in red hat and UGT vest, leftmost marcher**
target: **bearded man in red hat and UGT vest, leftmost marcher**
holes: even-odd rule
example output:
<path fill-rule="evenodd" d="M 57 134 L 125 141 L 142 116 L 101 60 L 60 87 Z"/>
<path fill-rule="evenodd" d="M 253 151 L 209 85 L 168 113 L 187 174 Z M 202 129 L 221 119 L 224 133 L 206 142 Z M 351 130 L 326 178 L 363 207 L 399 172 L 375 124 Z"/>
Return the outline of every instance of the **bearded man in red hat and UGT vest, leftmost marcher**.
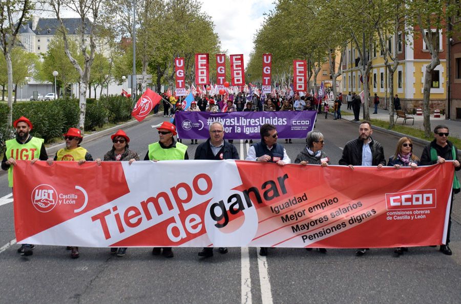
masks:
<path fill-rule="evenodd" d="M 24 116 L 15 120 L 13 126 L 16 128 L 16 138 L 5 142 L 6 151 L 3 155 L 2 169 L 8 170 L 8 185 L 13 187 L 13 167 L 16 160 L 31 160 L 34 163 L 38 159 L 47 160 L 47 150 L 43 144 L 44 140 L 29 134 L 33 125 Z M 22 244 L 17 249 L 21 255 L 32 255 L 34 245 Z"/>

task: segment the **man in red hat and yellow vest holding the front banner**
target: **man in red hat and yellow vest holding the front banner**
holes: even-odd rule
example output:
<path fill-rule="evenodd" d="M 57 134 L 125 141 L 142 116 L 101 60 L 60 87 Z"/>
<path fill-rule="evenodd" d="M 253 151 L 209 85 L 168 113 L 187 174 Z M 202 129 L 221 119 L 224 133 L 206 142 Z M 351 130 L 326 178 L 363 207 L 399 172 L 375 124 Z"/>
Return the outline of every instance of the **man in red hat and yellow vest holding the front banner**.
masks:
<path fill-rule="evenodd" d="M 87 149 L 80 147 L 80 143 L 83 140 L 81 136 L 80 129 L 69 128 L 66 134 L 64 135 L 64 140 L 66 141 L 66 148 L 59 149 L 54 156 L 54 160 L 59 161 L 78 161 L 78 165 L 81 165 L 85 161 L 93 161 L 93 157 L 87 151 Z M 53 164 L 53 158 L 48 158 L 48 165 Z M 77 259 L 80 256 L 78 252 L 78 247 L 68 246 L 67 249 L 71 251 L 71 258 Z"/>

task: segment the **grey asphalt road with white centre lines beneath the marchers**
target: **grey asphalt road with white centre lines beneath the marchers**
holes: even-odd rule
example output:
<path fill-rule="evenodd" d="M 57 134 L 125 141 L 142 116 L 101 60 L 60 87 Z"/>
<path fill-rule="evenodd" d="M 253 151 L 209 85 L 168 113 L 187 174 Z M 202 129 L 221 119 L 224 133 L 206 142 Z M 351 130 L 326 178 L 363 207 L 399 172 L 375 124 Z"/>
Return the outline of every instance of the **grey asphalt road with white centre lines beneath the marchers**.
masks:
<path fill-rule="evenodd" d="M 158 140 L 152 125 L 156 117 L 126 128 L 130 148 L 141 157 L 149 143 Z M 325 136 L 331 163 L 341 157 L 345 143 L 358 135 L 358 125 L 319 117 L 316 130 Z M 393 154 L 397 138 L 375 131 L 373 138 Z M 283 143 L 283 140 L 281 140 Z M 305 147 L 304 139 L 285 145 L 292 160 Z M 188 144 L 187 141 L 184 141 Z M 248 146 L 234 144 L 246 155 Z M 103 136 L 83 141 L 94 158 L 112 143 Z M 189 145 L 192 158 L 196 145 Z M 421 155 L 422 146 L 416 144 Z M 360 181 L 367 182 L 367 181 Z M 372 249 L 361 258 L 352 249 L 328 249 L 326 254 L 304 249 L 269 249 L 267 258 L 256 248 L 229 248 L 229 253 L 202 260 L 199 248 L 176 248 L 175 257 L 153 256 L 151 248 L 129 248 L 117 258 L 108 249 L 80 248 L 80 258 L 70 259 L 64 247 L 37 246 L 29 257 L 16 253 L 11 192 L 6 174 L 0 175 L 0 302 L 92 303 L 305 303 L 305 302 L 453 302 L 461 301 L 460 199 L 455 198 L 452 256 L 438 248 L 410 248 L 400 258 L 393 249 Z M 458 195 L 459 196 L 459 195 Z M 5 198 L 6 197 L 6 198 Z M 3 247 L 2 247 L 3 246 Z"/>

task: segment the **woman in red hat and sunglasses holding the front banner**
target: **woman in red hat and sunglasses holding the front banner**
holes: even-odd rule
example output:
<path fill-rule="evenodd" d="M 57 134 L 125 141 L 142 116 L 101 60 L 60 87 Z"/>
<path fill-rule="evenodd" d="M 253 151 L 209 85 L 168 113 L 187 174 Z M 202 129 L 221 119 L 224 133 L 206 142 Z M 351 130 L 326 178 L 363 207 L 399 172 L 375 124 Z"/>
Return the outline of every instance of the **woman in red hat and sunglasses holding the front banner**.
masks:
<path fill-rule="evenodd" d="M 133 150 L 129 149 L 128 144 L 130 143 L 130 137 L 123 130 L 118 130 L 115 134 L 111 135 L 112 139 L 112 149 L 104 155 L 103 161 L 130 161 L 139 160 L 139 155 Z M 100 162 L 101 159 L 96 159 L 97 162 Z M 117 256 L 124 256 L 127 253 L 127 247 L 112 247 L 112 254 L 117 254 Z"/>

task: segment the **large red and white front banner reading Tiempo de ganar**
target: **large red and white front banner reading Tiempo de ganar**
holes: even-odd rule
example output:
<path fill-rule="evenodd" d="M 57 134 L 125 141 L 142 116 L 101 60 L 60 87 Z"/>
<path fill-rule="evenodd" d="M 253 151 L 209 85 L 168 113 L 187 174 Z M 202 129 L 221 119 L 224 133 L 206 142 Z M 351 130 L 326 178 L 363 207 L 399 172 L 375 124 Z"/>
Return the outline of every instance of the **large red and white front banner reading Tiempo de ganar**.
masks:
<path fill-rule="evenodd" d="M 350 170 L 241 160 L 18 160 L 16 239 L 89 247 L 442 244 L 453 173 L 451 162 Z"/>

